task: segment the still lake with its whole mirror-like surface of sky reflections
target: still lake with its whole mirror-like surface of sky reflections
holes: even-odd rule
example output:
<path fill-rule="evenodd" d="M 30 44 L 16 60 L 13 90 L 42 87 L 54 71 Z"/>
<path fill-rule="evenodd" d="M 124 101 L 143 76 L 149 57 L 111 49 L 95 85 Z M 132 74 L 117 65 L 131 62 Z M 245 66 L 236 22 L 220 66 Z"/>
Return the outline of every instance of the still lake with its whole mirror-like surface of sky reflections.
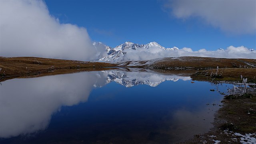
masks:
<path fill-rule="evenodd" d="M 10 79 L 0 85 L 0 143 L 187 140 L 212 127 L 232 87 L 191 82 L 139 69 Z"/>

